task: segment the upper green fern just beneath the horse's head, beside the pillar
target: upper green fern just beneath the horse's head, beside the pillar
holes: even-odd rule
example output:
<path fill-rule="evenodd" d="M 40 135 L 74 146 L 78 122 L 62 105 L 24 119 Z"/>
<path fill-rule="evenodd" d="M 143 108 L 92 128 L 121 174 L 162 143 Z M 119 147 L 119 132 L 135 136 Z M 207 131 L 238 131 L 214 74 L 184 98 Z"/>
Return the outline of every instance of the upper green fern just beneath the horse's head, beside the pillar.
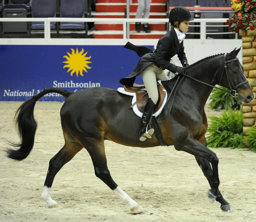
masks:
<path fill-rule="evenodd" d="M 220 86 L 219 88 L 226 89 L 222 86 Z M 240 109 L 241 106 L 241 103 L 238 101 L 237 97 L 234 98 L 227 92 L 218 90 L 216 88 L 212 90 L 212 94 L 209 96 L 209 98 L 211 99 L 209 107 L 211 109 L 216 109 L 217 111 L 220 111 L 221 109 Z"/>

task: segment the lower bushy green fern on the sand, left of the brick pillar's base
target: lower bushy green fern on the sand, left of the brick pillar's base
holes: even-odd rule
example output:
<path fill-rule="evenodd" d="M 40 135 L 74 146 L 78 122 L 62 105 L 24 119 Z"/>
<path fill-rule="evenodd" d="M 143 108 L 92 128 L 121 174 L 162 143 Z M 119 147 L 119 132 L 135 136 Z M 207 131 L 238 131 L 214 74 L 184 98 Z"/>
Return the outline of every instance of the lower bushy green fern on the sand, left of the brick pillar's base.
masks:
<path fill-rule="evenodd" d="M 243 148 L 243 113 L 228 109 L 220 117 L 210 116 L 207 137 L 209 147 Z"/>

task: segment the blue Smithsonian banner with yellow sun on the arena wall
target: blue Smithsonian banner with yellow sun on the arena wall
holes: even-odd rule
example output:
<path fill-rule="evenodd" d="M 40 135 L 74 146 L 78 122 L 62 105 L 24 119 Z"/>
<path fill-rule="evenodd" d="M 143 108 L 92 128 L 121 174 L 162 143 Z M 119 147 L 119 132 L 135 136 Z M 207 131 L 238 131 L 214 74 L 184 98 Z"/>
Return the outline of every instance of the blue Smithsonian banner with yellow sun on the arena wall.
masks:
<path fill-rule="evenodd" d="M 67 45 L 2 45 L 0 58 L 0 101 L 25 101 L 44 88 L 117 89 L 140 59 L 123 46 Z M 136 83 L 143 84 L 140 77 Z M 55 93 L 40 99 L 64 100 Z"/>

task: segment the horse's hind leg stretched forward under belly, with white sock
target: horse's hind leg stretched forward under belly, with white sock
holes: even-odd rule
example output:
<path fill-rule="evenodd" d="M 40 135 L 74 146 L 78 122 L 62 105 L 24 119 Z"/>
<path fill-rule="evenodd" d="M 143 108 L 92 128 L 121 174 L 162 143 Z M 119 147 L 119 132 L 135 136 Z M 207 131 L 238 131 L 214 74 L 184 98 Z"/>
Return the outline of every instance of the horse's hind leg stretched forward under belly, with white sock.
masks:
<path fill-rule="evenodd" d="M 99 144 L 99 143 L 95 142 L 94 144 Z M 139 214 L 143 212 L 143 208 L 136 201 L 131 199 L 131 197 L 129 197 L 129 195 L 127 195 L 127 193 L 125 193 L 125 191 L 123 191 L 121 187 L 118 186 L 112 179 L 107 166 L 107 159 L 104 151 L 104 143 L 102 142 L 101 148 L 99 148 L 98 146 L 98 149 L 97 148 L 89 149 L 88 152 L 93 161 L 95 176 L 97 176 L 106 185 L 108 185 L 108 187 L 112 189 L 112 191 L 114 191 L 114 193 L 116 193 L 118 197 L 121 198 L 121 201 L 123 203 L 128 204 L 130 207 L 130 211 L 133 214 Z"/>

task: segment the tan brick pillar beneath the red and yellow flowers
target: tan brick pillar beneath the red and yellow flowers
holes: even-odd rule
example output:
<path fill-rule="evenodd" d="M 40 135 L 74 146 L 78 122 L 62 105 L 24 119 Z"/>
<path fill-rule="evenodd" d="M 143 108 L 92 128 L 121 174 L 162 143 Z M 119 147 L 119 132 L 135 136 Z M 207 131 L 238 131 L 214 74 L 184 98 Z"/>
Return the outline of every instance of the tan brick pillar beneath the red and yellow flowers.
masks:
<path fill-rule="evenodd" d="M 243 40 L 243 69 L 252 90 L 256 92 L 256 30 L 239 30 Z M 251 126 L 256 126 L 256 99 L 249 104 L 243 104 L 243 136 Z"/>

